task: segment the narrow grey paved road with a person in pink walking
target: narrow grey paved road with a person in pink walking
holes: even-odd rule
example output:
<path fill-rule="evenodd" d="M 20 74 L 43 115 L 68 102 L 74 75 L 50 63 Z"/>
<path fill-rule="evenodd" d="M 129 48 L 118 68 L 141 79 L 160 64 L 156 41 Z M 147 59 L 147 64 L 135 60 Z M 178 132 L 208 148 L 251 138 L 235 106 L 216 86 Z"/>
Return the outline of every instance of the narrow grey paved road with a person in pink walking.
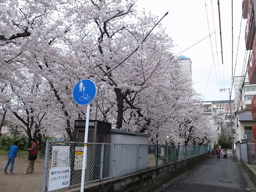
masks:
<path fill-rule="evenodd" d="M 252 189 L 252 190 L 250 190 Z M 196 168 L 171 180 L 155 192 L 256 192 L 243 168 L 232 154 L 228 159 L 212 156 Z"/>

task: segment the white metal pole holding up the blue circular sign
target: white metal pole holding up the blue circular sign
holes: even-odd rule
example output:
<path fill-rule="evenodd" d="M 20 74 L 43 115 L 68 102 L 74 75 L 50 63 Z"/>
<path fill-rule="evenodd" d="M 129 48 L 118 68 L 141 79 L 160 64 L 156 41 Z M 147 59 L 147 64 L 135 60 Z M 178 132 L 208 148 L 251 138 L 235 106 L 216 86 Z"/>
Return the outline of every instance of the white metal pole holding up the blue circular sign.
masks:
<path fill-rule="evenodd" d="M 90 117 L 90 104 L 87 105 L 86 120 L 85 120 L 85 139 L 83 144 L 83 168 L 82 168 L 82 178 L 81 178 L 81 189 L 80 192 L 84 191 L 85 184 L 85 167 L 87 159 L 87 141 L 88 141 L 88 128 L 89 128 L 89 117 Z"/>

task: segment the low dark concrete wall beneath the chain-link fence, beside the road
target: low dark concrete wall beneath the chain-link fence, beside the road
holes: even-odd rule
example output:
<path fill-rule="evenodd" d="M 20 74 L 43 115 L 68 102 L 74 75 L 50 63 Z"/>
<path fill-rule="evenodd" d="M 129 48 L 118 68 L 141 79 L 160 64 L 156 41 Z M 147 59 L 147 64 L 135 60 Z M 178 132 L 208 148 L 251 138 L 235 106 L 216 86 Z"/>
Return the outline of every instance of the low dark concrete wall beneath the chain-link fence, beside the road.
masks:
<path fill-rule="evenodd" d="M 140 173 L 92 183 L 85 185 L 84 192 L 152 192 L 208 158 L 209 153 L 206 153 L 148 168 Z M 80 192 L 80 188 L 66 190 L 66 192 Z"/>

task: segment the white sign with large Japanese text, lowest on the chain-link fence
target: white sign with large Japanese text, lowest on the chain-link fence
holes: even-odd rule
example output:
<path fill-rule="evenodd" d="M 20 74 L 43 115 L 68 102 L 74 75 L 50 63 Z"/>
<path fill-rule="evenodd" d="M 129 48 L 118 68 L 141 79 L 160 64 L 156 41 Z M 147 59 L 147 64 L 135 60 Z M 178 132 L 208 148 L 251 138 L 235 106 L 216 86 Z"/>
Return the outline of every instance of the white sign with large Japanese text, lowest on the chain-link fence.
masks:
<path fill-rule="evenodd" d="M 70 167 L 50 168 L 48 191 L 69 187 Z"/>

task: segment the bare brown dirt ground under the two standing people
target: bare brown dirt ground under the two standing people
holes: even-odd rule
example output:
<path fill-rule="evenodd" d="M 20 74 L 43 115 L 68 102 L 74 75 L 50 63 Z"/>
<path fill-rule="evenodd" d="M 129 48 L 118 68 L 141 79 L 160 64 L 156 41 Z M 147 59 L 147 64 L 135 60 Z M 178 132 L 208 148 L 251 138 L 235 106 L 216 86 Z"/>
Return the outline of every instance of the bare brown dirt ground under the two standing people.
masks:
<path fill-rule="evenodd" d="M 41 192 L 43 185 L 43 167 L 44 156 L 39 157 L 35 162 L 34 174 L 23 175 L 28 166 L 27 156 L 15 159 L 13 173 L 14 175 L 4 174 L 4 168 L 7 163 L 7 156 L 0 156 L 0 192 Z M 7 172 L 10 171 L 10 166 Z"/>

